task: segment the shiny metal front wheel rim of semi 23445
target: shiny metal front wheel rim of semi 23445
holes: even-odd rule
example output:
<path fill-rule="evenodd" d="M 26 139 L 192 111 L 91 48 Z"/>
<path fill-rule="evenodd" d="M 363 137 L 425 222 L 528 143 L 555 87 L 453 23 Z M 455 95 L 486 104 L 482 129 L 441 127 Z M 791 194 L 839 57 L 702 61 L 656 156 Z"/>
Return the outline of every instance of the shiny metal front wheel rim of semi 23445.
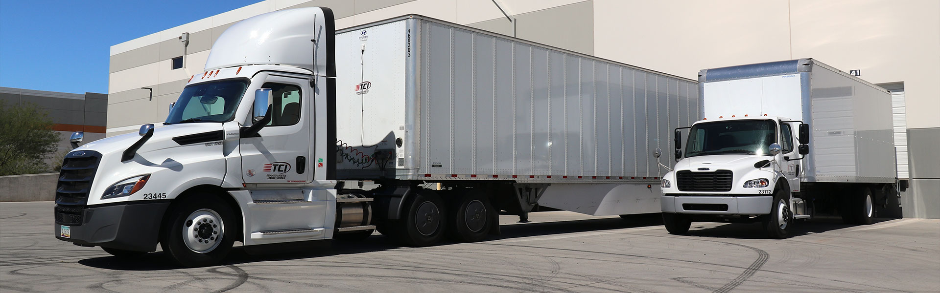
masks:
<path fill-rule="evenodd" d="M 225 237 L 224 227 L 222 217 L 214 210 L 198 209 L 189 214 L 182 224 L 182 242 L 195 253 L 209 253 Z"/>

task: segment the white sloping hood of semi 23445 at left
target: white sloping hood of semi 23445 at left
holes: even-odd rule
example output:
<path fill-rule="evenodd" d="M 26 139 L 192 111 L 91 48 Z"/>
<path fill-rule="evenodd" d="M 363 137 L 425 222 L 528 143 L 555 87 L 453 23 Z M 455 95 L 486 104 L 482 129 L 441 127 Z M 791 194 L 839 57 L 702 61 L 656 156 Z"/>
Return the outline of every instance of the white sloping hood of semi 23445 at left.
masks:
<path fill-rule="evenodd" d="M 223 123 L 160 126 L 137 149 L 133 159 L 126 162 L 121 161 L 121 157 L 125 150 L 141 139 L 137 133 L 116 135 L 75 148 L 72 152 L 93 150 L 101 153 L 86 204 L 169 199 L 195 185 L 218 186 L 227 172 L 227 154 L 238 154 L 235 151 L 238 131 L 229 131 L 232 133 L 226 135 L 223 130 Z M 150 175 L 149 180 L 138 192 L 101 199 L 102 193 L 115 183 L 146 175 Z"/>

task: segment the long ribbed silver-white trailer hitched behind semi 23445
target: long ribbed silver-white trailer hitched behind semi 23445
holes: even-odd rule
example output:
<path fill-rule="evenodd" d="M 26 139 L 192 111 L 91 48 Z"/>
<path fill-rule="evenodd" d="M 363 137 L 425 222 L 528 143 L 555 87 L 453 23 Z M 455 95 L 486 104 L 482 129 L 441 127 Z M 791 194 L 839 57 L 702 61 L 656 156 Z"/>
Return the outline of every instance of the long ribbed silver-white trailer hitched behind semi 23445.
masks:
<path fill-rule="evenodd" d="M 659 212 L 650 153 L 699 112 L 693 80 L 418 15 L 337 32 L 337 88 L 339 179 L 512 182 L 595 215 Z"/>

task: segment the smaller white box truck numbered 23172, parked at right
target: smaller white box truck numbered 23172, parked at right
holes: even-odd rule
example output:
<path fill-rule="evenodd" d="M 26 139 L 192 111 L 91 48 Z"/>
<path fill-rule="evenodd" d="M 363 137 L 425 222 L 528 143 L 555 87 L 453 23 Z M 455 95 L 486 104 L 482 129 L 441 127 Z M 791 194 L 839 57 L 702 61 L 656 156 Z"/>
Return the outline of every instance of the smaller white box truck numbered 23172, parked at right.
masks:
<path fill-rule="evenodd" d="M 760 222 L 783 239 L 817 212 L 871 224 L 897 206 L 884 88 L 811 58 L 703 69 L 698 82 L 701 120 L 675 130 L 677 163 L 660 183 L 669 233 Z"/>

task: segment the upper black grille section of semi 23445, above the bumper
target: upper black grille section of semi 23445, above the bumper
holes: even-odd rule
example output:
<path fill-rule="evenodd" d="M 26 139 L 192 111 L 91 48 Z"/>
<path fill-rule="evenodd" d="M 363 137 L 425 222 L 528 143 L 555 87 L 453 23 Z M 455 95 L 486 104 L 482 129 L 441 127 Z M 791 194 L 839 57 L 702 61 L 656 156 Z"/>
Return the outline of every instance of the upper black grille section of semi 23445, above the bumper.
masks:
<path fill-rule="evenodd" d="M 91 150 L 73 151 L 62 162 L 55 203 L 64 206 L 85 206 L 91 181 L 95 177 L 102 154 Z"/>

